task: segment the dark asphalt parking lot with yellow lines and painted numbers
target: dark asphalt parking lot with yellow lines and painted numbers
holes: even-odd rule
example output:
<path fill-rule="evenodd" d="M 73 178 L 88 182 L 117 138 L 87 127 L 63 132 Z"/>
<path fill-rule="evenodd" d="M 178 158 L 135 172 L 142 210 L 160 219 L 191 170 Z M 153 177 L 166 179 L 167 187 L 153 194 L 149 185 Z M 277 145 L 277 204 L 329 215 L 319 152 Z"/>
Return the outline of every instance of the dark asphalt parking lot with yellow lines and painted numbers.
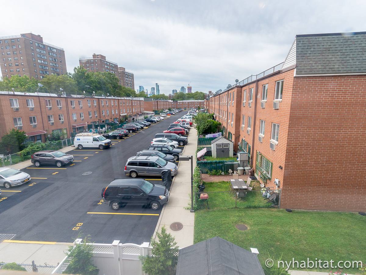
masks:
<path fill-rule="evenodd" d="M 101 191 L 113 179 L 127 177 L 127 159 L 146 149 L 155 133 L 166 130 L 180 114 L 112 140 L 111 148 L 74 148 L 68 152 L 75 158 L 71 165 L 22 169 L 31 175 L 29 182 L 10 190 L 1 187 L 0 233 L 15 234 L 13 240 L 21 241 L 72 242 L 82 233 L 97 243 L 149 242 L 161 210 L 127 205 L 113 211 L 101 201 Z M 91 174 L 82 175 L 85 172 Z M 158 177 L 142 178 L 161 183 Z"/>

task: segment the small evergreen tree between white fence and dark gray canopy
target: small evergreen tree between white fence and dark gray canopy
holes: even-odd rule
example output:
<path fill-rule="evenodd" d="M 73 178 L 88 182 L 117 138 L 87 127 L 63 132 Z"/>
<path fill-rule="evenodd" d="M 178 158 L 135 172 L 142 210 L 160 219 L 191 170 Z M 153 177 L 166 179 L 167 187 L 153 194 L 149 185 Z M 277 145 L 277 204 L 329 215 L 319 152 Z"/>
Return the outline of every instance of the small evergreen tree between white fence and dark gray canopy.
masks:
<path fill-rule="evenodd" d="M 178 263 L 179 247 L 171 234 L 163 226 L 161 233 L 156 233 L 158 242 L 151 239 L 151 254 L 153 256 L 139 256 L 142 262 L 142 270 L 149 275 L 171 275 L 175 274 Z"/>

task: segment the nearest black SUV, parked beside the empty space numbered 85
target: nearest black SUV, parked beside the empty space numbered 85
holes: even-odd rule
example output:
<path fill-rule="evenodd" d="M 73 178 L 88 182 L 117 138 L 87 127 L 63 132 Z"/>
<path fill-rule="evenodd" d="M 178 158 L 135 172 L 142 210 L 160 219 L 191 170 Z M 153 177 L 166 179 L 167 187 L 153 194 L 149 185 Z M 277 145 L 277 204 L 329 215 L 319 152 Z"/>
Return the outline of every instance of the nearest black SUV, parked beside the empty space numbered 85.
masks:
<path fill-rule="evenodd" d="M 169 190 L 144 179 L 114 179 L 102 189 L 102 198 L 113 210 L 126 204 L 148 205 L 153 210 L 169 201 Z"/>

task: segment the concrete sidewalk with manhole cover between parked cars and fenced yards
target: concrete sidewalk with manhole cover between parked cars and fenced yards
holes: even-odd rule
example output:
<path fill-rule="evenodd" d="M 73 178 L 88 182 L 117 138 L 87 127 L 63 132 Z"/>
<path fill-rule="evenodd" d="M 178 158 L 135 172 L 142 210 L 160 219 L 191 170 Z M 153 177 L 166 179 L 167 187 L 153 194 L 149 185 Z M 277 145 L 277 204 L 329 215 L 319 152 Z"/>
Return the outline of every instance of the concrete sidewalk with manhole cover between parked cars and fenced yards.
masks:
<path fill-rule="evenodd" d="M 197 130 L 191 128 L 188 135 L 188 144 L 184 147 L 183 155 L 193 155 L 195 157 L 197 149 Z M 193 169 L 196 161 L 193 159 Z M 161 210 L 158 224 L 156 225 L 153 238 L 156 238 L 156 232 L 161 231 L 165 226 L 167 232 L 174 236 L 175 241 L 180 248 L 193 245 L 194 213 L 184 209 L 190 204 L 191 194 L 191 162 L 179 161 L 178 174 L 174 177 L 170 191 L 169 202 Z M 183 224 L 179 231 L 170 229 L 170 225 L 178 221 Z"/>

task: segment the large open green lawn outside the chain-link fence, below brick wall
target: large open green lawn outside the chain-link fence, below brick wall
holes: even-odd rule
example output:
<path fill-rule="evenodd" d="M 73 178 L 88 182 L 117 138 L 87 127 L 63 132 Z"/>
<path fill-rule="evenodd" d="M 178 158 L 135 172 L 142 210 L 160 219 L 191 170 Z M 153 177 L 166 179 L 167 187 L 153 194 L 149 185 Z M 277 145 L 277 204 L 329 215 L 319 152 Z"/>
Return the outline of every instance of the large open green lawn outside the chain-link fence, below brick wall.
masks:
<path fill-rule="evenodd" d="M 206 191 L 206 190 L 205 190 Z M 239 231 L 236 224 L 246 224 Z M 292 257 L 322 260 L 360 260 L 365 262 L 366 217 L 346 212 L 313 212 L 284 209 L 213 209 L 197 210 L 194 242 L 220 236 L 236 245 L 259 250 L 262 265 L 268 253 L 282 260 Z M 267 253 L 268 252 L 268 253 Z M 328 272 L 329 269 L 311 269 Z M 359 274 L 357 269 L 344 272 Z"/>

